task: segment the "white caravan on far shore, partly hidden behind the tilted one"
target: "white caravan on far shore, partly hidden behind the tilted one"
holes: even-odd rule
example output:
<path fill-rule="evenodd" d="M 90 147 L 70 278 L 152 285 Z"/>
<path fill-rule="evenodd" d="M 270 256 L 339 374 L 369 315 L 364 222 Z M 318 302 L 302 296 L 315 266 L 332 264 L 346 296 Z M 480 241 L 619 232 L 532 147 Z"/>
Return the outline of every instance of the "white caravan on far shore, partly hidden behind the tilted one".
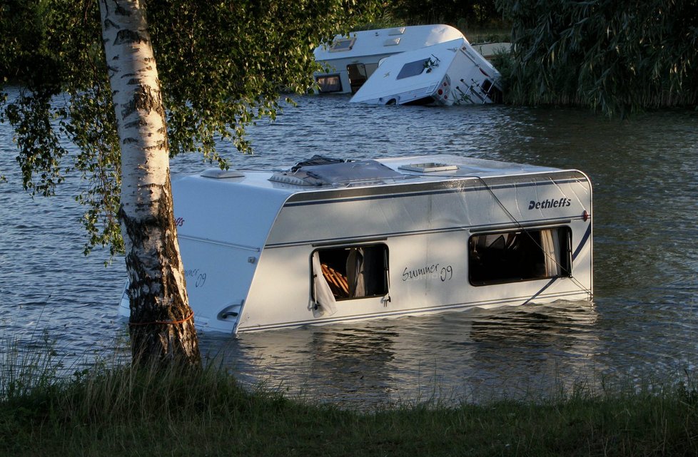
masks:
<path fill-rule="evenodd" d="M 335 36 L 329 46 L 315 48 L 315 61 L 327 71 L 315 73 L 321 93 L 354 93 L 373 74 L 381 59 L 396 53 L 464 38 L 443 24 L 352 32 Z"/>

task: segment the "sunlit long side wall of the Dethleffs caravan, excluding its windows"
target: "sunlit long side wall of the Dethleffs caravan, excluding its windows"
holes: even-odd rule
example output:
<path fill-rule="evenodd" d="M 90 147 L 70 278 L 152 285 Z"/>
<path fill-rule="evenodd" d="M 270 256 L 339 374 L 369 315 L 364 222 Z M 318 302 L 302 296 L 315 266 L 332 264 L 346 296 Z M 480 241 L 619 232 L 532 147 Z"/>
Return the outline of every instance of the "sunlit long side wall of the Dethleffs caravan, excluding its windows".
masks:
<path fill-rule="evenodd" d="M 576 172 L 294 195 L 270 232 L 238 329 L 590 299 L 591 220 L 585 212 L 591 212 L 590 183 Z M 573 276 L 471 284 L 470 238 L 521 227 L 570 227 Z M 386 247 L 387 292 L 338 299 L 331 314 L 314 309 L 313 252 L 373 245 Z"/>

